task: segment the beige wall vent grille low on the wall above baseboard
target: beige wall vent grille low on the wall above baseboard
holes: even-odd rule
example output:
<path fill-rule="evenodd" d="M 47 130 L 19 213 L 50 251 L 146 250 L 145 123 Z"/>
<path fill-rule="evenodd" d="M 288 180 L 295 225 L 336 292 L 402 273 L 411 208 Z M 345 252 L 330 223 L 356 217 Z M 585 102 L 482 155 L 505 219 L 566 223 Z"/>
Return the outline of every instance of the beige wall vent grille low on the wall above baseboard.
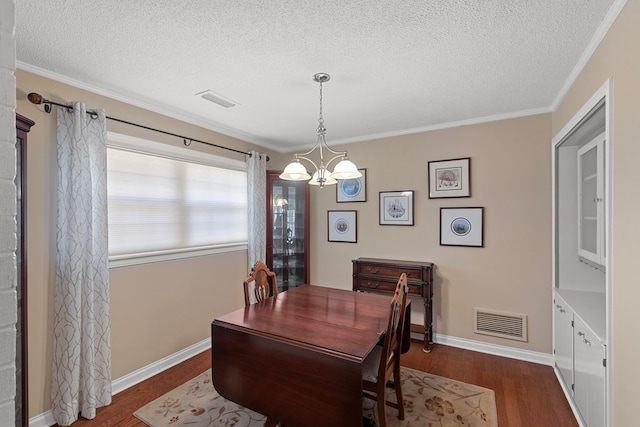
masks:
<path fill-rule="evenodd" d="M 527 316 L 474 308 L 473 331 L 476 334 L 527 341 Z"/>

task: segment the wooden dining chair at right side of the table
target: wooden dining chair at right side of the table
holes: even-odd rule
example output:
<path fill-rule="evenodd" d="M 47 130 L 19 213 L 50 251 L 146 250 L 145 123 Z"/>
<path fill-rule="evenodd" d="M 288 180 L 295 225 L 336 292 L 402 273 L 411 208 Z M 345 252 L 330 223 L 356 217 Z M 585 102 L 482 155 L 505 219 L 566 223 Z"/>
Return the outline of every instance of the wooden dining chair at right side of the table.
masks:
<path fill-rule="evenodd" d="M 377 402 L 378 424 L 380 427 L 386 427 L 387 425 L 387 405 L 396 408 L 398 410 L 398 418 L 404 420 L 402 382 L 400 381 L 400 350 L 407 306 L 407 292 L 407 275 L 402 273 L 391 300 L 384 344 L 375 346 L 364 361 L 362 389 L 364 397 Z M 392 377 L 397 403 L 388 401 L 385 397 L 385 387 Z"/>

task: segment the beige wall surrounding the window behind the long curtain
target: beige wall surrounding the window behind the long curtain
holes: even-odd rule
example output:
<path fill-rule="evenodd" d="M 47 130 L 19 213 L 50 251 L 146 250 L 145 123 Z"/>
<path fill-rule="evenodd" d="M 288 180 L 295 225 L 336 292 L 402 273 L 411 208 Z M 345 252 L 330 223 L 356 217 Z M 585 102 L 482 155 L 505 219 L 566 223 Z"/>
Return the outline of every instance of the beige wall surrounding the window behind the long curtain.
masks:
<path fill-rule="evenodd" d="M 219 145 L 248 150 L 251 144 L 102 97 L 85 90 L 16 71 L 17 111 L 36 122 L 29 133 L 27 180 L 29 412 L 50 404 L 53 298 L 55 286 L 56 115 L 31 104 L 29 92 L 58 102 L 85 101 L 108 116 L 157 127 Z M 109 131 L 182 145 L 182 140 L 107 121 Z M 193 143 L 202 150 L 242 159 L 242 155 Z M 261 149 L 260 151 L 265 151 Z M 272 157 L 273 153 L 268 153 Z M 215 316 L 241 307 L 240 284 L 247 274 L 246 251 L 184 261 L 112 269 L 112 374 L 117 379 L 210 336 Z"/>

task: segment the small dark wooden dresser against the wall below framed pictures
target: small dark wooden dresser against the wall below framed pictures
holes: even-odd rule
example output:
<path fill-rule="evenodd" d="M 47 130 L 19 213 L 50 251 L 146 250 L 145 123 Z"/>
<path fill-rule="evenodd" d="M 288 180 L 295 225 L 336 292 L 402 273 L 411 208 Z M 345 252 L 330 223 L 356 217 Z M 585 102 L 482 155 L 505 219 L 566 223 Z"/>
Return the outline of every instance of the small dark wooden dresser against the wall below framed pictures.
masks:
<path fill-rule="evenodd" d="M 354 291 L 392 294 L 400 275 L 407 274 L 409 296 L 419 296 L 424 301 L 424 351 L 431 351 L 433 263 L 379 258 L 358 258 L 352 262 Z"/>

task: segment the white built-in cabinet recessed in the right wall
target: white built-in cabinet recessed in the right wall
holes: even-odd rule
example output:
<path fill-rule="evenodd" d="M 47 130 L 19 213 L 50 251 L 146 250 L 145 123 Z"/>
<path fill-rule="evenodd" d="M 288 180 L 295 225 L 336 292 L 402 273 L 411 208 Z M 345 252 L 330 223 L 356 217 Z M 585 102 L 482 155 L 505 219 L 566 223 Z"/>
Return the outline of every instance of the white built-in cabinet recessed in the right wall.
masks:
<path fill-rule="evenodd" d="M 610 93 L 552 141 L 554 368 L 581 426 L 610 426 Z"/>

